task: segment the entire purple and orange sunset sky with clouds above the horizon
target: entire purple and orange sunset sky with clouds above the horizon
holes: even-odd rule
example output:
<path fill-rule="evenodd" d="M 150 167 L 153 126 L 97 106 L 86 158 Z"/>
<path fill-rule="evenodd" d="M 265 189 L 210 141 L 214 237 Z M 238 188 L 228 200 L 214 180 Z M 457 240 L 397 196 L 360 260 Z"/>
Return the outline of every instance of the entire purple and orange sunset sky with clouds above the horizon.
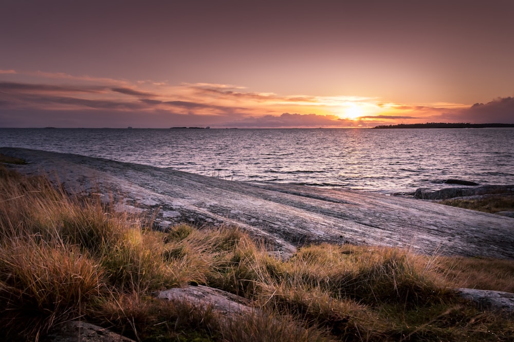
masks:
<path fill-rule="evenodd" d="M 0 5 L 0 127 L 514 123 L 514 0 Z"/>

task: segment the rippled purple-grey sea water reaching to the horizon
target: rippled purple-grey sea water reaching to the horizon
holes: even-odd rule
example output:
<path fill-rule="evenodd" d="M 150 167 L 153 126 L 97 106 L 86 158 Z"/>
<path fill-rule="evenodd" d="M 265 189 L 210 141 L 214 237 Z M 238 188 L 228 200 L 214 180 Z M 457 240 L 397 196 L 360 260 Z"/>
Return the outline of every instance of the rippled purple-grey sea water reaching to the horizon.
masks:
<path fill-rule="evenodd" d="M 383 193 L 514 184 L 514 129 L 13 129 L 24 147 L 250 182 Z"/>

